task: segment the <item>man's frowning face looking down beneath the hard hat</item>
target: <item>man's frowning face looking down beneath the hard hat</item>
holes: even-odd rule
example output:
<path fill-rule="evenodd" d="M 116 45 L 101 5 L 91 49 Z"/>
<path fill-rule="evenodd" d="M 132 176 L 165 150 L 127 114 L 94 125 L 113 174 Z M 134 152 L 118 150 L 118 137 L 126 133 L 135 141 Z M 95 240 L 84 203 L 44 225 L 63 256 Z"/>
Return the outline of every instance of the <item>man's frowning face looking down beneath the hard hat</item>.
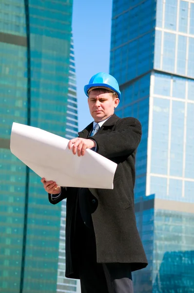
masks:
<path fill-rule="evenodd" d="M 89 93 L 88 105 L 95 122 L 106 120 L 113 115 L 118 103 L 119 99 L 112 93 L 103 93 L 100 89 L 93 89 Z"/>

